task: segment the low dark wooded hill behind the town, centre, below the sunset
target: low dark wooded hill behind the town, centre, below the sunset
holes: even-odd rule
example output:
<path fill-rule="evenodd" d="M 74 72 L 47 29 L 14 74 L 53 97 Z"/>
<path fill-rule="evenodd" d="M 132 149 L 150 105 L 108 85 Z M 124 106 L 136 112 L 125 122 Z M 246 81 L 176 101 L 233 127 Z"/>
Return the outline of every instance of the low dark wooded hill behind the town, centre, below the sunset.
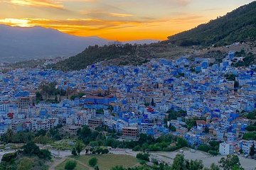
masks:
<path fill-rule="evenodd" d="M 63 71 L 85 69 L 87 65 L 95 62 L 105 62 L 105 64 L 127 65 L 143 64 L 151 58 L 156 57 L 177 57 L 190 53 L 191 49 L 184 47 L 174 47 L 153 43 L 151 45 L 98 45 L 87 47 L 80 54 L 60 61 L 48 67 Z"/>

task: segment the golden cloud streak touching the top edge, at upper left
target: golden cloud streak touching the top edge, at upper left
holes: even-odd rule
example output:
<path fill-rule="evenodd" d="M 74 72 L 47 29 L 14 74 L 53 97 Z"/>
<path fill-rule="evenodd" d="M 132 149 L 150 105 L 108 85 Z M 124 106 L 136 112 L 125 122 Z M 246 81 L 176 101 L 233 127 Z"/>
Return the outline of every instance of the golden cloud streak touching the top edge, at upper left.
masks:
<path fill-rule="evenodd" d="M 63 9 L 63 5 L 50 0 L 11 0 L 11 4 Z"/>

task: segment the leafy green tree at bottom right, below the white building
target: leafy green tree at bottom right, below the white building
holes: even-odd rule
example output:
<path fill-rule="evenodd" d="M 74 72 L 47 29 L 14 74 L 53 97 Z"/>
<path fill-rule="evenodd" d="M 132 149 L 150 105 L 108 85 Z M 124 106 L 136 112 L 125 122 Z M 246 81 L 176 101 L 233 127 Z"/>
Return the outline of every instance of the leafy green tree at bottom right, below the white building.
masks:
<path fill-rule="evenodd" d="M 232 170 L 235 167 L 240 167 L 240 161 L 237 155 L 228 155 L 227 158 L 222 157 L 219 164 L 223 170 Z"/>

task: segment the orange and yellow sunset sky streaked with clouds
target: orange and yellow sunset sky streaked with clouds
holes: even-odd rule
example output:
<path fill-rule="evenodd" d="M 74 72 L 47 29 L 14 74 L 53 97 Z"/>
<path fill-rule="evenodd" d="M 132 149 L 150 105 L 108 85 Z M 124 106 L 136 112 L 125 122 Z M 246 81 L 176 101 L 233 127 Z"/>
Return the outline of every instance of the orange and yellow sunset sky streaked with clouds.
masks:
<path fill-rule="evenodd" d="M 166 40 L 252 0 L 0 0 L 0 24 L 108 40 Z"/>

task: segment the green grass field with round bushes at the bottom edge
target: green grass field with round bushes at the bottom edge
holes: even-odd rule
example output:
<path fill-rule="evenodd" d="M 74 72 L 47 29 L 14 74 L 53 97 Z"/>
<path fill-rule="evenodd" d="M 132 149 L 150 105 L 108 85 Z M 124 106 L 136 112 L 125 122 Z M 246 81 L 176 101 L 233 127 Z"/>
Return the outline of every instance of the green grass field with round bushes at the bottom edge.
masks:
<path fill-rule="evenodd" d="M 117 154 L 103 154 L 103 155 L 82 155 L 79 157 L 70 157 L 68 159 L 75 159 L 77 160 L 77 166 L 75 170 L 89 170 L 93 169 L 89 166 L 88 161 L 92 157 L 97 157 L 98 162 L 97 166 L 99 166 L 100 170 L 108 170 L 111 169 L 113 166 L 122 165 L 124 167 L 131 167 L 138 164 L 138 159 L 128 155 L 117 155 Z M 58 166 L 56 166 L 55 170 L 63 170 L 65 167 L 65 163 L 68 161 L 62 162 Z"/>

